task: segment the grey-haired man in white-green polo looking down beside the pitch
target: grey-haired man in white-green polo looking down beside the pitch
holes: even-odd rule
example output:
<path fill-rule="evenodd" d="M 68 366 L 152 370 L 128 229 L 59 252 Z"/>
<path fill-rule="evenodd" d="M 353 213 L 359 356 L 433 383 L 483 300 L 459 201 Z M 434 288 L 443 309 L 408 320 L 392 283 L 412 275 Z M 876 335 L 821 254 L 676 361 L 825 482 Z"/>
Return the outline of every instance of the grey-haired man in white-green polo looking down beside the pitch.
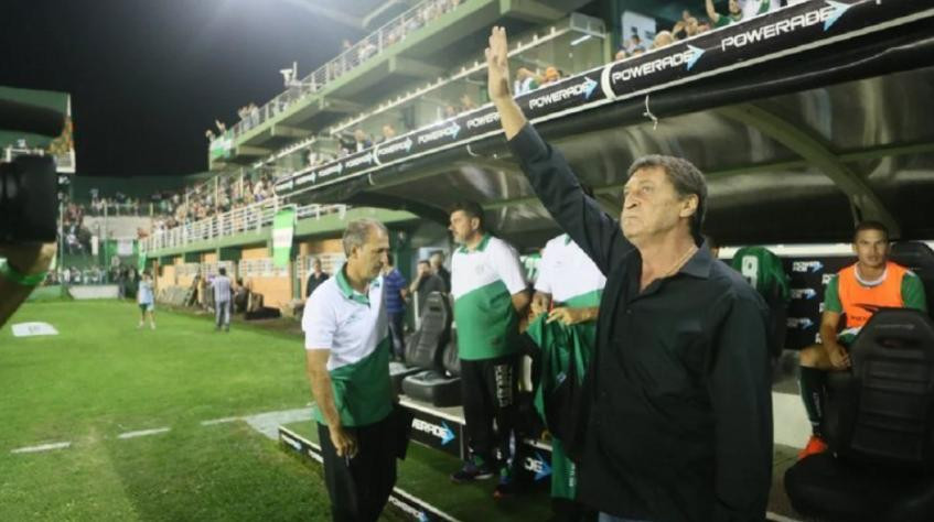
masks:
<path fill-rule="evenodd" d="M 347 225 L 347 262 L 309 296 L 302 316 L 313 417 L 334 521 L 375 521 L 396 482 L 389 323 L 379 276 L 386 227 Z"/>

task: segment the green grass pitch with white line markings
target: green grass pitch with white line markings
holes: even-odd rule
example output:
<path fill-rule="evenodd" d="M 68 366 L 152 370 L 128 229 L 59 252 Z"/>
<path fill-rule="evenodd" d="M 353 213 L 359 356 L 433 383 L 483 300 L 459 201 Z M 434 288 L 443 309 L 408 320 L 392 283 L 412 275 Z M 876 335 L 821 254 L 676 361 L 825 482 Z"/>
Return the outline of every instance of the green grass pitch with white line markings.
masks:
<path fill-rule="evenodd" d="M 28 303 L 0 329 L 0 520 L 328 520 L 320 469 L 244 422 L 304 407 L 301 340 L 158 312 L 138 330 L 130 303 Z M 169 433 L 118 439 L 120 433 Z M 34 454 L 11 449 L 69 441 Z M 386 520 L 399 520 L 387 514 Z"/>

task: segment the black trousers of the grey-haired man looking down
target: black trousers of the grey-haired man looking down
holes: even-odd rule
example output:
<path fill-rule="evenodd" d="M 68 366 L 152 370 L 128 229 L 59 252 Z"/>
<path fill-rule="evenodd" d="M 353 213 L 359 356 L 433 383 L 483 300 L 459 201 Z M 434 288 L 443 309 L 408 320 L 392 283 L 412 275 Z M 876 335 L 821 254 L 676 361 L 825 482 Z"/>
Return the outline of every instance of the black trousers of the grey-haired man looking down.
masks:
<path fill-rule="evenodd" d="M 396 485 L 398 449 L 391 434 L 391 415 L 376 424 L 344 429 L 356 436 L 357 454 L 351 459 L 337 456 L 328 426 L 318 424 L 331 519 L 374 522 Z"/>

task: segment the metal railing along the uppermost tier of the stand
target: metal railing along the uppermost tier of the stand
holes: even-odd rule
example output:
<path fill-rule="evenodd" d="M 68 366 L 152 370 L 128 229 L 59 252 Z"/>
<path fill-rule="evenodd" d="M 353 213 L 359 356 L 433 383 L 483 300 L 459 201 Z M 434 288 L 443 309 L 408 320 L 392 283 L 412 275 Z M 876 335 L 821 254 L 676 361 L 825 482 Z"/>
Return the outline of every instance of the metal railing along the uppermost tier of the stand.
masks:
<path fill-rule="evenodd" d="M 383 53 L 387 47 L 401 42 L 410 33 L 417 31 L 428 22 L 445 14 L 463 0 L 425 0 L 408 11 L 390 20 L 365 39 L 353 46 L 344 50 L 336 57 L 325 63 L 301 80 L 293 81 L 289 88 L 272 98 L 262 107 L 254 109 L 246 118 L 238 121 L 217 140 L 236 139 L 239 135 L 261 126 L 267 120 L 277 117 L 288 109 L 292 104 L 318 93 L 325 85 L 347 74 L 367 59 Z M 214 142 L 212 142 L 212 145 Z"/>

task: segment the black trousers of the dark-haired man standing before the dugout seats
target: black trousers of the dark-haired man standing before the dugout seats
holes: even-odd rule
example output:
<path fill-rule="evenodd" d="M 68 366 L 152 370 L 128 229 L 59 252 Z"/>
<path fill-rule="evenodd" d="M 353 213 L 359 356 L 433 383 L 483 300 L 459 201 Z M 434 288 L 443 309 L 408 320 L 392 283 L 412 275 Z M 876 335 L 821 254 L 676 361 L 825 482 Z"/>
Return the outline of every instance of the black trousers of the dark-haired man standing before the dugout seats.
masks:
<path fill-rule="evenodd" d="M 461 360 L 461 393 L 471 453 L 493 463 L 509 455 L 518 394 L 519 355 Z M 496 429 L 493 422 L 496 422 Z"/>

